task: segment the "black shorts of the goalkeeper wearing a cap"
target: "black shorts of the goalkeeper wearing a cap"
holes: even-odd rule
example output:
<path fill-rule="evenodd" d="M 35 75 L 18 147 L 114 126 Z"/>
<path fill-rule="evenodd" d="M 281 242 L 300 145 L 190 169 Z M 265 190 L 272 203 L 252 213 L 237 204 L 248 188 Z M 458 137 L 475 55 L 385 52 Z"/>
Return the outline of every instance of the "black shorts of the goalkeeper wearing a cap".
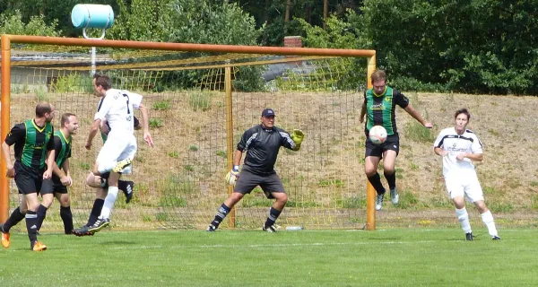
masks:
<path fill-rule="evenodd" d="M 269 199 L 274 198 L 271 196 L 272 192 L 285 192 L 284 186 L 282 185 L 282 180 L 278 177 L 276 172 L 273 174 L 260 176 L 248 170 L 241 170 L 238 181 L 233 188 L 233 192 L 239 192 L 240 194 L 247 195 L 257 186 L 262 187 L 265 196 L 267 196 Z"/>

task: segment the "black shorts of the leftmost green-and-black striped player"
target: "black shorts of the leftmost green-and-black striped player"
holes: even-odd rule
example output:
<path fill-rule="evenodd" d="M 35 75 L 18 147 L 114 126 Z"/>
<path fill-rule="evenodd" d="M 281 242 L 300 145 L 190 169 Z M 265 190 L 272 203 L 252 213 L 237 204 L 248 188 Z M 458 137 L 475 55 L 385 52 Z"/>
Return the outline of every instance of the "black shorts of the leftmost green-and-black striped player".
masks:
<path fill-rule="evenodd" d="M 45 170 L 33 170 L 15 161 L 15 184 L 19 188 L 19 194 L 30 195 L 33 193 L 47 195 L 53 192 L 52 180 L 43 179 Z"/>

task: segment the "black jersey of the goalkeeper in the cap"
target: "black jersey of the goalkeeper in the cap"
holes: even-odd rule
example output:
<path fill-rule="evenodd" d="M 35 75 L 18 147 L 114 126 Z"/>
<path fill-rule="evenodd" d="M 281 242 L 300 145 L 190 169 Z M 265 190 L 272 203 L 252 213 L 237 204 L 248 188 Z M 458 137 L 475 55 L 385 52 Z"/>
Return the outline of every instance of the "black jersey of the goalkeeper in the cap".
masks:
<path fill-rule="evenodd" d="M 248 129 L 238 143 L 239 151 L 247 151 L 243 170 L 258 175 L 273 174 L 281 146 L 291 150 L 295 148 L 290 134 L 282 128 L 273 126 L 273 129 L 265 129 L 258 125 Z"/>

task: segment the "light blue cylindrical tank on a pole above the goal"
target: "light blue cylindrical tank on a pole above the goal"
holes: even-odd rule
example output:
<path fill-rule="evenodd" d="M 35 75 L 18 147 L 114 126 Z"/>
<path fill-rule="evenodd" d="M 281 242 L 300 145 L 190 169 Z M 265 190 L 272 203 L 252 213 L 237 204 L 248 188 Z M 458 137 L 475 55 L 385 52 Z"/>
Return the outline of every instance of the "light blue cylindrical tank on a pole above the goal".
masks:
<path fill-rule="evenodd" d="M 71 11 L 74 28 L 108 29 L 114 23 L 114 11 L 110 5 L 76 4 Z"/>

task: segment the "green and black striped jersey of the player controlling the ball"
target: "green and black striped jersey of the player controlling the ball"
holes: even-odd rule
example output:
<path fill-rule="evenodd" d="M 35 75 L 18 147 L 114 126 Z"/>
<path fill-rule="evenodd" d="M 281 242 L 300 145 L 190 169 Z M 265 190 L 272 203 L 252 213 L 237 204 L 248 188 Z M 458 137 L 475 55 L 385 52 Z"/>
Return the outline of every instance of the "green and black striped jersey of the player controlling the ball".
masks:
<path fill-rule="evenodd" d="M 366 135 L 372 126 L 383 126 L 387 135 L 397 135 L 395 108 L 396 105 L 405 109 L 409 105 L 409 99 L 398 90 L 386 86 L 385 92 L 377 95 L 373 89 L 364 93 L 366 105 Z"/>

